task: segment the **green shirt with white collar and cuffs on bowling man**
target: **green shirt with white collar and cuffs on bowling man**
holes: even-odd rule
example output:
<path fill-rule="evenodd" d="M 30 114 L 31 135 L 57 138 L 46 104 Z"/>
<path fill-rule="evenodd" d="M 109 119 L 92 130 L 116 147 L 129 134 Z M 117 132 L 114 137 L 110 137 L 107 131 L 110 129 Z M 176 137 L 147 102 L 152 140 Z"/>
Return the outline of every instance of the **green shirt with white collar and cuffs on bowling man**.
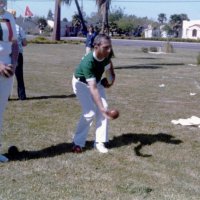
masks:
<path fill-rule="evenodd" d="M 95 56 L 95 52 L 90 52 L 84 56 L 75 70 L 75 77 L 82 80 L 90 81 L 96 80 L 98 83 L 104 73 L 105 66 L 110 63 L 111 56 L 98 60 Z"/>

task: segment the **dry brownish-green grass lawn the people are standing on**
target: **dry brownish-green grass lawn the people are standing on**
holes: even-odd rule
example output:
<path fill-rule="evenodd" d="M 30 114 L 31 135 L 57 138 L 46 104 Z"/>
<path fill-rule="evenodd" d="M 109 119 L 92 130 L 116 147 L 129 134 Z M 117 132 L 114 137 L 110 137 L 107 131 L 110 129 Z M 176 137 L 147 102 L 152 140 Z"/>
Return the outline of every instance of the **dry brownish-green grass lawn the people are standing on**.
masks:
<path fill-rule="evenodd" d="M 16 81 L 3 126 L 0 200 L 197 200 L 200 129 L 171 120 L 200 117 L 197 51 L 143 53 L 114 46 L 115 85 L 107 90 L 120 118 L 110 121 L 110 151 L 71 153 L 80 115 L 71 78 L 85 47 L 30 44 L 24 50 L 28 99 L 17 100 Z M 160 87 L 160 86 L 164 87 Z M 196 93 L 191 96 L 190 93 Z"/>

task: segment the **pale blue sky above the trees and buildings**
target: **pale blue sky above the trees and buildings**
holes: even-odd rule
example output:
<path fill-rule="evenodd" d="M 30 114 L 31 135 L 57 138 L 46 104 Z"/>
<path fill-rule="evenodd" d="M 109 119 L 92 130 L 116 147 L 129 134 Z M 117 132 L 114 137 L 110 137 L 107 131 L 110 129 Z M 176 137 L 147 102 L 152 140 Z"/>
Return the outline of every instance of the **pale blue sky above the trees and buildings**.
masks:
<path fill-rule="evenodd" d="M 79 0 L 79 5 L 87 16 L 97 11 L 95 0 Z M 15 9 L 17 16 L 24 15 L 26 6 L 29 6 L 34 15 L 47 17 L 48 11 L 54 13 L 55 0 L 8 0 L 7 8 Z M 165 13 L 167 19 L 173 14 L 187 14 L 190 20 L 200 20 L 200 0 L 112 0 L 111 10 L 121 8 L 124 14 L 137 17 L 148 17 L 157 20 L 160 13 Z M 74 1 L 71 6 L 61 6 L 61 19 L 69 21 L 77 12 Z"/>

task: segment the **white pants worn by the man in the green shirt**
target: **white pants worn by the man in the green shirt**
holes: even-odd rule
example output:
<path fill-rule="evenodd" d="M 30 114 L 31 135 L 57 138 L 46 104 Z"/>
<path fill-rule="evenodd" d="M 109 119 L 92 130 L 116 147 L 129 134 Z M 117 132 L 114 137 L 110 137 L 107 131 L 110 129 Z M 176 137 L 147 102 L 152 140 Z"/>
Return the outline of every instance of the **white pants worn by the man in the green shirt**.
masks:
<path fill-rule="evenodd" d="M 95 142 L 107 142 L 108 120 L 102 115 L 96 106 L 88 85 L 78 81 L 73 76 L 72 87 L 82 107 L 81 117 L 74 136 L 74 143 L 81 147 L 85 146 L 89 128 L 92 125 L 94 118 L 96 119 Z M 97 84 L 97 88 L 103 105 L 107 108 L 108 104 L 106 102 L 105 89 L 100 83 Z"/>

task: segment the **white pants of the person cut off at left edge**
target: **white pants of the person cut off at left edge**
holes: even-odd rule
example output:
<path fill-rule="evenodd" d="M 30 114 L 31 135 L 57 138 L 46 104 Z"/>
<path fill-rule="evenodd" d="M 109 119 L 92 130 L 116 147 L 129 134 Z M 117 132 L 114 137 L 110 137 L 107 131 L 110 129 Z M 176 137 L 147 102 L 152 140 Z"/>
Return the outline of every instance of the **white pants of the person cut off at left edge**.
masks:
<path fill-rule="evenodd" d="M 8 97 L 12 89 L 13 76 L 10 78 L 5 78 L 0 76 L 0 145 L 1 145 L 1 129 L 3 123 L 3 113 L 8 102 Z"/>

